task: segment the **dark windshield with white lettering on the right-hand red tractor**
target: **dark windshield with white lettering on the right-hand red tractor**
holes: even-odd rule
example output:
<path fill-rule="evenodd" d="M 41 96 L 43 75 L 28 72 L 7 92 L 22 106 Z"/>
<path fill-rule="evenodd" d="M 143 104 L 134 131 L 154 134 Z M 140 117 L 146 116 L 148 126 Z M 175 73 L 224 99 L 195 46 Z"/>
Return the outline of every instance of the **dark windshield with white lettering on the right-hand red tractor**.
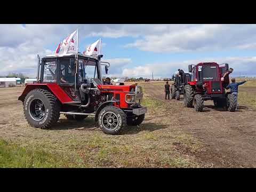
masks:
<path fill-rule="evenodd" d="M 217 81 L 218 80 L 218 71 L 216 66 L 198 66 L 198 75 L 201 79 L 201 73 L 203 71 L 203 80 L 204 81 Z"/>

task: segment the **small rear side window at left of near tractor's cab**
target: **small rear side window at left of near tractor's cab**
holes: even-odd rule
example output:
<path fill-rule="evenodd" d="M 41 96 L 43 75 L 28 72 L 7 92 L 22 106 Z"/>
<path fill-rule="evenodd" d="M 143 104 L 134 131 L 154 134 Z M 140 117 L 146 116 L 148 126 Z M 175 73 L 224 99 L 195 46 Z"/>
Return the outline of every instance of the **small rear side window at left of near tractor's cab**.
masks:
<path fill-rule="evenodd" d="M 56 82 L 57 79 L 57 65 L 55 61 L 44 62 L 44 82 Z"/>

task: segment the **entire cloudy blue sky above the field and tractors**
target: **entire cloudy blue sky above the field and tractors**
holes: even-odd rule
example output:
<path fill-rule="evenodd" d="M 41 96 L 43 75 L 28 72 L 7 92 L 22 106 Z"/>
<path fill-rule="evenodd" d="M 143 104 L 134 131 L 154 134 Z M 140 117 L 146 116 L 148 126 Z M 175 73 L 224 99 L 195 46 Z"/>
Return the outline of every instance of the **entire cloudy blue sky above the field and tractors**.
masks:
<path fill-rule="evenodd" d="M 229 63 L 256 76 L 256 25 L 0 25 L 0 75 L 36 76 L 36 55 L 52 54 L 79 27 L 79 52 L 102 38 L 109 76 L 171 77 L 198 62 Z"/>

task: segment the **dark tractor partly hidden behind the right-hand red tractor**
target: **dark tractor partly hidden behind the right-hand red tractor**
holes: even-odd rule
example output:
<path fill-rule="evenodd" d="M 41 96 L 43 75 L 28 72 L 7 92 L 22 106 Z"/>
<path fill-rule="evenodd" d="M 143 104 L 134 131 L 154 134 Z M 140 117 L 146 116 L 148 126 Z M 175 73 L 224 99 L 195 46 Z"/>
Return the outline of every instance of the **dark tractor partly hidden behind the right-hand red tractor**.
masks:
<path fill-rule="evenodd" d="M 184 94 L 184 86 L 190 81 L 191 75 L 189 73 L 184 74 L 185 81 L 181 81 L 181 77 L 178 74 L 172 75 L 174 83 L 171 86 L 171 98 L 180 100 L 180 95 Z"/>

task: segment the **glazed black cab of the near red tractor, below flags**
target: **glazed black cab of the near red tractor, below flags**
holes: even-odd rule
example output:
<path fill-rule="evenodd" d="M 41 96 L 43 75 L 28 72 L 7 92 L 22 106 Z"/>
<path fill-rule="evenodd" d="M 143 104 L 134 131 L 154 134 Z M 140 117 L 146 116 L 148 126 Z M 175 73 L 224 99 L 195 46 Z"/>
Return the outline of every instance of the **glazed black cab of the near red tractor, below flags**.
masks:
<path fill-rule="evenodd" d="M 78 65 L 75 54 L 63 57 L 46 56 L 42 58 L 42 63 L 39 63 L 41 68 L 37 82 L 57 84 L 72 100 L 81 102 L 83 97 L 79 95 L 79 90 L 81 91 L 82 84 L 95 88 L 91 79 L 98 79 L 98 82 L 102 83 L 99 62 L 100 58 L 95 59 L 83 54 L 78 54 Z"/>

